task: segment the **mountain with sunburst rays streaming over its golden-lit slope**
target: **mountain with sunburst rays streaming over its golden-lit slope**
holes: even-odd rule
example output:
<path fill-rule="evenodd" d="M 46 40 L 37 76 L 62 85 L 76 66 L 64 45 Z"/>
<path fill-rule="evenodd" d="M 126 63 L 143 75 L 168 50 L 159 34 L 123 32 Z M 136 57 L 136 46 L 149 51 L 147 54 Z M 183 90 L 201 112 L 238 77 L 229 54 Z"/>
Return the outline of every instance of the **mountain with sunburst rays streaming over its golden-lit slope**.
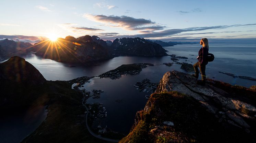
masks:
<path fill-rule="evenodd" d="M 45 41 L 33 46 L 37 55 L 62 62 L 86 62 L 112 58 L 112 52 L 103 40 L 94 41 L 90 35 L 75 39 L 67 36 L 53 43 Z"/>

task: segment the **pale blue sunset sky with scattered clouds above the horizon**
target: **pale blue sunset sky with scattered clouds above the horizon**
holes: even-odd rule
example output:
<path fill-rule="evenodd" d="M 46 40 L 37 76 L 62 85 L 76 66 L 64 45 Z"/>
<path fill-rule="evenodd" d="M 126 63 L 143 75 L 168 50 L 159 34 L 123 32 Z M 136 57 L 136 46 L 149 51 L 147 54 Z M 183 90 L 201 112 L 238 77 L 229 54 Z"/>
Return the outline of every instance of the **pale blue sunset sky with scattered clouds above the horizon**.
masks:
<path fill-rule="evenodd" d="M 255 0 L 1 0 L 0 39 L 256 41 Z"/>

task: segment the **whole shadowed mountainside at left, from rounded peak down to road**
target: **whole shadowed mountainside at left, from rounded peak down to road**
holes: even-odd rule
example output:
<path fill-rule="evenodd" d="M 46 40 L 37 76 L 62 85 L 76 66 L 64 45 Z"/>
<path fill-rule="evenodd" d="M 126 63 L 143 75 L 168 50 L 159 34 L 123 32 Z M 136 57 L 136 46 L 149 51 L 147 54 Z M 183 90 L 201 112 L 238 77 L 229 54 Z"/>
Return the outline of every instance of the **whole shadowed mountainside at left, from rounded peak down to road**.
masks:
<path fill-rule="evenodd" d="M 36 111 L 47 106 L 45 121 L 22 142 L 104 142 L 86 129 L 83 95 L 69 82 L 46 81 L 34 66 L 15 56 L 0 63 L 0 87 L 0 111 L 24 109 L 31 117 L 24 122 L 34 120 Z"/>

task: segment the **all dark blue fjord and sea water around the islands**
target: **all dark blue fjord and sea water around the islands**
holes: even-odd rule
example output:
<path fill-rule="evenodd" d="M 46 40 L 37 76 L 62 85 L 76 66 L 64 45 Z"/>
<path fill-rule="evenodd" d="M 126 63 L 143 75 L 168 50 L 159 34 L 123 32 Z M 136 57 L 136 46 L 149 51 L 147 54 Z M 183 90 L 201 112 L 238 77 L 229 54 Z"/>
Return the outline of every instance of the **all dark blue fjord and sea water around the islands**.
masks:
<path fill-rule="evenodd" d="M 180 59 L 179 62 L 193 64 L 197 61 L 196 57 L 200 45 L 183 44 L 164 48 L 168 51 L 167 54 L 188 57 L 188 59 Z M 209 53 L 213 53 L 215 59 L 206 66 L 207 78 L 213 79 L 214 77 L 214 80 L 245 87 L 256 85 L 256 81 L 233 78 L 232 76 L 219 73 L 221 71 L 256 78 L 256 45 L 210 44 Z M 142 69 L 141 73 L 136 76 L 125 75 L 116 80 L 92 78 L 90 83 L 84 84 L 83 88 L 89 91 L 92 89 L 104 90 L 99 99 L 89 98 L 87 100 L 87 103 L 102 102 L 103 106 L 106 107 L 107 117 L 102 120 L 101 125 L 125 134 L 129 132 L 134 123 L 136 112 L 144 108 L 147 102 L 145 95 L 150 95 L 150 92 L 139 92 L 139 90 L 136 90 L 133 87 L 136 82 L 148 78 L 151 82 L 158 83 L 163 74 L 171 70 L 178 70 L 189 74 L 193 73 L 180 69 L 181 65 L 174 64 L 171 67 L 162 65 L 164 62 L 173 62 L 170 56 L 119 56 L 84 64 L 61 63 L 50 59 L 41 59 L 34 54 L 27 54 L 24 58 L 35 66 L 46 80 L 53 81 L 71 80 L 81 76 L 97 76 L 123 64 L 153 63 L 155 66 L 148 66 Z M 122 99 L 122 102 L 116 102 L 118 99 Z M 35 126 L 38 127 L 39 124 Z"/>

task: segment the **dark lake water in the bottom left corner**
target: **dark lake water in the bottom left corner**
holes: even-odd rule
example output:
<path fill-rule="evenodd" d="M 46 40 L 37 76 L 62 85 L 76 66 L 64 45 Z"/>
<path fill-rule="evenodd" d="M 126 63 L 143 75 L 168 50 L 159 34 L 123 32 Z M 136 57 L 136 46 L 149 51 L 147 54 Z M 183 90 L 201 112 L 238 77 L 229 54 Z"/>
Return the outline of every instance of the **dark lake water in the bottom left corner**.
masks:
<path fill-rule="evenodd" d="M 46 106 L 1 111 L 0 142 L 18 143 L 31 134 L 45 120 Z"/>

